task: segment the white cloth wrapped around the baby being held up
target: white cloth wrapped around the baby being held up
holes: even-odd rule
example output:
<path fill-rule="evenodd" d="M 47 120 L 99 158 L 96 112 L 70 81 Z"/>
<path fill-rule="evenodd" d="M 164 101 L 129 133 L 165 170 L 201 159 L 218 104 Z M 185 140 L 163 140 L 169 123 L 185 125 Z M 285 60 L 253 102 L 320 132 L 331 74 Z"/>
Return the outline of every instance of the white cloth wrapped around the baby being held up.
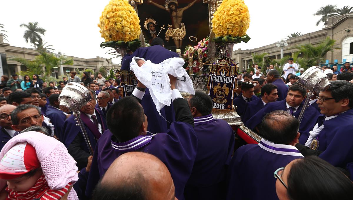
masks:
<path fill-rule="evenodd" d="M 182 58 L 173 57 L 159 64 L 154 64 L 147 60 L 139 67 L 135 59 L 142 59 L 133 57 L 130 63 L 130 70 L 132 70 L 137 79 L 150 89 L 150 94 L 156 109 L 159 114 L 164 105 L 169 106 L 172 102 L 172 90 L 170 89 L 170 79 L 168 74 L 177 77 L 175 88 L 182 92 L 188 92 L 192 95 L 195 94 L 192 81 L 189 74 L 183 68 L 184 60 Z"/>

